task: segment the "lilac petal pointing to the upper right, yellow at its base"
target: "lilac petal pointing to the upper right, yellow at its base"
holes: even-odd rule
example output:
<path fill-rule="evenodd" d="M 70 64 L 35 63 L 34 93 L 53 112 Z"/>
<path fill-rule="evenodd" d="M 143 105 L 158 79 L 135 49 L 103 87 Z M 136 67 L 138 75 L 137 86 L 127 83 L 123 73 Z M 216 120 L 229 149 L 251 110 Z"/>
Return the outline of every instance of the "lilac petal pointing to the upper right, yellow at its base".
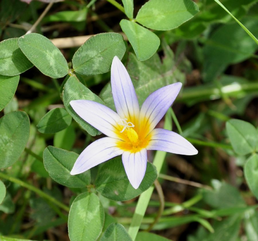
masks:
<path fill-rule="evenodd" d="M 180 82 L 167 85 L 150 94 L 144 101 L 140 110 L 140 129 L 146 128 L 146 135 L 155 128 L 165 115 L 181 87 L 182 83 Z"/>

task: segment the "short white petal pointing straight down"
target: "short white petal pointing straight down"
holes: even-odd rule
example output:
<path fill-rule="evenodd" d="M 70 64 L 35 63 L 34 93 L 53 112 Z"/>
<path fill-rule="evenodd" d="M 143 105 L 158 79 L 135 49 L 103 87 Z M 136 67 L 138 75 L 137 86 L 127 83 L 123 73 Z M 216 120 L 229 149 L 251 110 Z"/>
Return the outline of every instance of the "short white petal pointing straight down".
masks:
<path fill-rule="evenodd" d="M 147 151 L 142 149 L 136 153 L 125 151 L 122 154 L 124 170 L 133 188 L 137 189 L 144 177 L 147 166 Z"/>

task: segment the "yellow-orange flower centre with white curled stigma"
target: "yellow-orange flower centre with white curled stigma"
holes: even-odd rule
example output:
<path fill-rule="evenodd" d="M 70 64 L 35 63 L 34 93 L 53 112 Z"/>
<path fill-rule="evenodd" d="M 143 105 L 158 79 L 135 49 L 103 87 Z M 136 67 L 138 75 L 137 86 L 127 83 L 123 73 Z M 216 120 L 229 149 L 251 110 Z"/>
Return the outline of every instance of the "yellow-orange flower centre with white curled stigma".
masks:
<path fill-rule="evenodd" d="M 133 122 L 121 119 L 118 123 L 116 133 L 120 140 L 118 140 L 117 146 L 125 151 L 137 152 L 148 145 L 151 135 L 148 135 L 149 128 L 140 130 L 139 121 L 136 118 L 132 120 Z"/>

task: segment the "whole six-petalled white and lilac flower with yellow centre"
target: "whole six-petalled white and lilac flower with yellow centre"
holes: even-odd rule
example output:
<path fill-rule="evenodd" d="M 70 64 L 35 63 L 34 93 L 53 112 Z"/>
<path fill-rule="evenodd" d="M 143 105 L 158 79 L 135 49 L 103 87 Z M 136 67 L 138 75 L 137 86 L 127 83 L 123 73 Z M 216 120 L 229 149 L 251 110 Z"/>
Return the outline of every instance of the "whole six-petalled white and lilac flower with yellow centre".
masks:
<path fill-rule="evenodd" d="M 197 154 L 193 145 L 177 133 L 154 129 L 177 97 L 181 86 L 178 82 L 156 90 L 147 97 L 140 109 L 130 76 L 115 56 L 111 66 L 111 87 L 117 113 L 91 100 L 70 102 L 83 120 L 107 135 L 85 148 L 76 160 L 71 175 L 122 155 L 126 175 L 137 189 L 146 171 L 147 150 Z"/>

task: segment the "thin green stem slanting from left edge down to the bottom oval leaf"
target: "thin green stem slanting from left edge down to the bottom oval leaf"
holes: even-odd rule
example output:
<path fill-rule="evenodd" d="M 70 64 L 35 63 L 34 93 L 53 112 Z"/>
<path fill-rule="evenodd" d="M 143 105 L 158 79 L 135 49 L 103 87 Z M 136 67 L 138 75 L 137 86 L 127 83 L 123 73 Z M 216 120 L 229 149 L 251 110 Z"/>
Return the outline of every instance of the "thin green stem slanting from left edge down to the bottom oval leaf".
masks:
<path fill-rule="evenodd" d="M 24 181 L 21 181 L 17 178 L 14 178 L 12 176 L 8 176 L 6 174 L 4 174 L 3 172 L 0 172 L 0 178 L 4 178 L 6 180 L 9 180 L 10 182 L 16 183 L 20 186 L 23 186 L 27 189 L 29 189 L 30 191 L 33 191 L 34 193 L 37 193 L 40 197 L 54 203 L 55 205 L 57 205 L 58 207 L 64 209 L 65 211 L 69 212 L 70 208 L 66 205 L 64 205 L 63 203 L 57 201 L 55 198 L 51 197 L 50 195 L 42 192 L 40 189 L 36 188 L 35 186 L 32 186 L 29 183 L 26 183 Z"/>

